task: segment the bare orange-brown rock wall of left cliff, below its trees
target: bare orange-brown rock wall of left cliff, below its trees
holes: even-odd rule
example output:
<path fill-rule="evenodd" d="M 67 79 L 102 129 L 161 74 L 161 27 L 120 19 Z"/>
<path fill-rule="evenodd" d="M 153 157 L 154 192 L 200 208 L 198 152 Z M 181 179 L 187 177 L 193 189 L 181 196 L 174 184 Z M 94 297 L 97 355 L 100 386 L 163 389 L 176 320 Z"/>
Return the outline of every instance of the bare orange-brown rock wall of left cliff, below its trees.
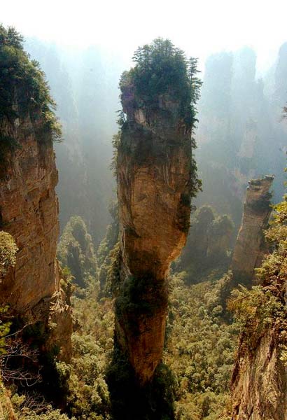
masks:
<path fill-rule="evenodd" d="M 13 236 L 19 248 L 15 268 L 0 281 L 0 304 L 26 323 L 48 325 L 66 319 L 58 337 L 64 360 L 71 356 L 71 309 L 59 286 L 56 262 L 58 202 L 57 169 L 52 139 L 36 138 L 29 118 L 18 120 L 11 131 L 20 148 L 1 167 L 1 229 Z M 51 302 L 57 301 L 57 305 Z M 53 344 L 55 345 L 55 343 Z"/>

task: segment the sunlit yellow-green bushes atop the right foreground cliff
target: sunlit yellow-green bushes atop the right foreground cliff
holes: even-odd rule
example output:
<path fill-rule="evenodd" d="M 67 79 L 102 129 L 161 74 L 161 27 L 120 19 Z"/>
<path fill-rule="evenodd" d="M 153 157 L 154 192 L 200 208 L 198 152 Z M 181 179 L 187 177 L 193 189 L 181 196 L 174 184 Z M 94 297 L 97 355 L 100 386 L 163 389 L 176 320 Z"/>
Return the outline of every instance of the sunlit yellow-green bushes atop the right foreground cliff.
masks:
<path fill-rule="evenodd" d="M 241 286 L 232 291 L 228 304 L 242 332 L 243 345 L 255 348 L 258 339 L 274 328 L 281 344 L 286 344 L 286 283 L 287 283 L 287 197 L 274 206 L 272 225 L 266 239 L 274 244 L 274 251 L 267 255 L 256 270 L 259 286 L 247 290 Z"/>

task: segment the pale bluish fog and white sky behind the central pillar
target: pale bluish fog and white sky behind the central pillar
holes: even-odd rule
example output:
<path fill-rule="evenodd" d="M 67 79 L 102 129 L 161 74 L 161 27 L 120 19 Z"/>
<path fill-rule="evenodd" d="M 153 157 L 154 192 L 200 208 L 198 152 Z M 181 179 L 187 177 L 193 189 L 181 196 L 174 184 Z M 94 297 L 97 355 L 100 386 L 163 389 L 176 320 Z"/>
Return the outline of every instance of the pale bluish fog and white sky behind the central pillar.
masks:
<path fill-rule="evenodd" d="M 132 65 L 134 50 L 158 36 L 198 57 L 202 71 L 195 138 L 204 186 L 197 207 L 211 204 L 238 228 L 248 180 L 263 174 L 276 175 L 274 197 L 280 200 L 286 12 L 281 0 L 272 7 L 247 0 L 2 4 L 0 23 L 25 36 L 25 49 L 41 64 L 57 102 L 64 134 L 55 146 L 61 228 L 76 214 L 95 243 L 104 236 L 115 195 L 111 140 L 118 130 L 120 74 Z"/>

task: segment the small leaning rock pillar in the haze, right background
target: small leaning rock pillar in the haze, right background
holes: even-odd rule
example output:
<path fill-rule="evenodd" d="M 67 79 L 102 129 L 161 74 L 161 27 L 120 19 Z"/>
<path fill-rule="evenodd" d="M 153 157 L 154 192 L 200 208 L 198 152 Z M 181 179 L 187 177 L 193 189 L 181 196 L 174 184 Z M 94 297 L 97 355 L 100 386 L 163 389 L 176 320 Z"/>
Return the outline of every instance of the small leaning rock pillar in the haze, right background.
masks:
<path fill-rule="evenodd" d="M 248 183 L 241 228 L 230 267 L 235 284 L 250 283 L 255 267 L 260 266 L 263 255 L 267 253 L 263 231 L 272 211 L 269 188 L 273 179 L 273 176 L 265 176 Z"/>

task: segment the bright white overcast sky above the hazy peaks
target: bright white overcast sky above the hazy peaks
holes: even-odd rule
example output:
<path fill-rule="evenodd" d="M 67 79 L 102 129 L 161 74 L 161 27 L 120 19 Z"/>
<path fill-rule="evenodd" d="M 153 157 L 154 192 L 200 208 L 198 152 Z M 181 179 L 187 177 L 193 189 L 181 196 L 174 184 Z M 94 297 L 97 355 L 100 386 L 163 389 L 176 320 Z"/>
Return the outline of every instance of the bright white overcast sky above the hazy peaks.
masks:
<path fill-rule="evenodd" d="M 287 41 L 285 0 L 0 0 L 0 22 L 59 45 L 100 45 L 132 57 L 170 38 L 200 66 L 214 52 L 251 46 L 265 71 Z"/>

